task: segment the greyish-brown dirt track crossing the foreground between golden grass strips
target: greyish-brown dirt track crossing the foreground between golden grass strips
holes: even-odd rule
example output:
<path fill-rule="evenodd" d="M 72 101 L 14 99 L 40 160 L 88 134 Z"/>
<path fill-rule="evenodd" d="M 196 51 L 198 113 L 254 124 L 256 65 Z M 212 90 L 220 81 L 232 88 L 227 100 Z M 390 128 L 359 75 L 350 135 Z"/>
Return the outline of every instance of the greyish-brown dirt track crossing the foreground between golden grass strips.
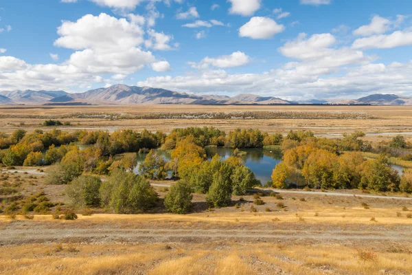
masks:
<path fill-rule="evenodd" d="M 140 228 L 136 228 L 139 226 Z M 12 221 L 3 226 L 0 245 L 25 243 L 54 243 L 73 241 L 81 243 L 203 243 L 205 241 L 236 241 L 238 243 L 276 242 L 297 243 L 346 243 L 400 241 L 412 243 L 409 225 L 294 225 L 277 223 L 216 225 L 214 229 L 202 229 L 202 225 L 190 229 L 176 228 L 168 223 L 93 223 L 91 221 Z"/>

